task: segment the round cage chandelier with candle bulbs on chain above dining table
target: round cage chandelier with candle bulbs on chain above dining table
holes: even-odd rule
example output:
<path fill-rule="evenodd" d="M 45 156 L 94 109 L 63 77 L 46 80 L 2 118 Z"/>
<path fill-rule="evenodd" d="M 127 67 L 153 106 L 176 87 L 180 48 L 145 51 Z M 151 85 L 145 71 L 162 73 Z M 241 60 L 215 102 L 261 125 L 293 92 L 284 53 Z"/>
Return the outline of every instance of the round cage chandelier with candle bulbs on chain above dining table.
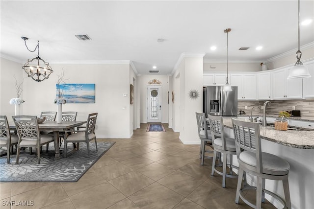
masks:
<path fill-rule="evenodd" d="M 27 60 L 25 65 L 22 67 L 27 73 L 28 77 L 31 77 L 34 81 L 40 82 L 49 78 L 49 75 L 53 72 L 52 68 L 49 66 L 49 63 L 46 63 L 45 60 L 39 57 L 39 41 L 37 41 L 37 46 L 34 50 L 29 50 L 26 45 L 26 40 L 28 38 L 21 37 L 24 40 L 25 46 L 28 51 L 34 52 L 37 49 L 37 57 Z"/>

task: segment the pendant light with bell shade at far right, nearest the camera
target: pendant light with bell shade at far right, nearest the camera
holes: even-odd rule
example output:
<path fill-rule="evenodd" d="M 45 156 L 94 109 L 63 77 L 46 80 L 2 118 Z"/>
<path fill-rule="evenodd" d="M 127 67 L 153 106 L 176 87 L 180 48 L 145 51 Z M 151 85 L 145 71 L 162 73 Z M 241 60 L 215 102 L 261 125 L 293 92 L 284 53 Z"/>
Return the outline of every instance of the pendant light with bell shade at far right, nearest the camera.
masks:
<path fill-rule="evenodd" d="M 300 0 L 298 0 L 298 50 L 296 52 L 296 63 L 291 68 L 287 79 L 309 78 L 309 69 L 300 61 L 302 52 L 300 51 Z"/>

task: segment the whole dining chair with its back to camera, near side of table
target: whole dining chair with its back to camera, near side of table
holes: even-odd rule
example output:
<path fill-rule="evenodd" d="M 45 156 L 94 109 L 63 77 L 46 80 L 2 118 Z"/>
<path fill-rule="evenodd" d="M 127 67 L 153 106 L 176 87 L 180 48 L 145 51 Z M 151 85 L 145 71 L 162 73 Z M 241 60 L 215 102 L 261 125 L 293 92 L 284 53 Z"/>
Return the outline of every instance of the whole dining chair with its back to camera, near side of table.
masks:
<path fill-rule="evenodd" d="M 20 149 L 22 147 L 35 147 L 37 161 L 40 163 L 41 146 L 53 141 L 53 136 L 41 135 L 38 127 L 37 116 L 12 116 L 19 136 L 16 164 L 19 163 Z"/>

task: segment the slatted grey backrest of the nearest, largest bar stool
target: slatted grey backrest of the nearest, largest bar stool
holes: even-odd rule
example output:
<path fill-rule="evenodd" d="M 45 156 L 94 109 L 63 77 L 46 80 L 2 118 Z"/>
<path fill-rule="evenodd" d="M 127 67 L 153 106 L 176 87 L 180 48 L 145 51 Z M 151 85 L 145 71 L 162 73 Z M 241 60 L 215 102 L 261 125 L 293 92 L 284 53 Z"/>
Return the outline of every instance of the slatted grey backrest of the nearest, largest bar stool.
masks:
<path fill-rule="evenodd" d="M 258 123 L 246 122 L 232 118 L 232 125 L 235 134 L 236 156 L 246 150 L 255 153 L 256 172 L 262 173 L 262 148 L 260 125 Z"/>

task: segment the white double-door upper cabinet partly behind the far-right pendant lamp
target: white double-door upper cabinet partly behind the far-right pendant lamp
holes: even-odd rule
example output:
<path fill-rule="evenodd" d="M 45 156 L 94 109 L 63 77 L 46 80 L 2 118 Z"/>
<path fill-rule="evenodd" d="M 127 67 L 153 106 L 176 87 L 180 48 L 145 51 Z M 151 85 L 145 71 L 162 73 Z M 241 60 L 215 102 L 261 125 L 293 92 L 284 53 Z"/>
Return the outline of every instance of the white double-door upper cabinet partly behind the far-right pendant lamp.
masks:
<path fill-rule="evenodd" d="M 289 69 L 272 72 L 273 99 L 302 98 L 302 79 L 287 79 Z"/>

